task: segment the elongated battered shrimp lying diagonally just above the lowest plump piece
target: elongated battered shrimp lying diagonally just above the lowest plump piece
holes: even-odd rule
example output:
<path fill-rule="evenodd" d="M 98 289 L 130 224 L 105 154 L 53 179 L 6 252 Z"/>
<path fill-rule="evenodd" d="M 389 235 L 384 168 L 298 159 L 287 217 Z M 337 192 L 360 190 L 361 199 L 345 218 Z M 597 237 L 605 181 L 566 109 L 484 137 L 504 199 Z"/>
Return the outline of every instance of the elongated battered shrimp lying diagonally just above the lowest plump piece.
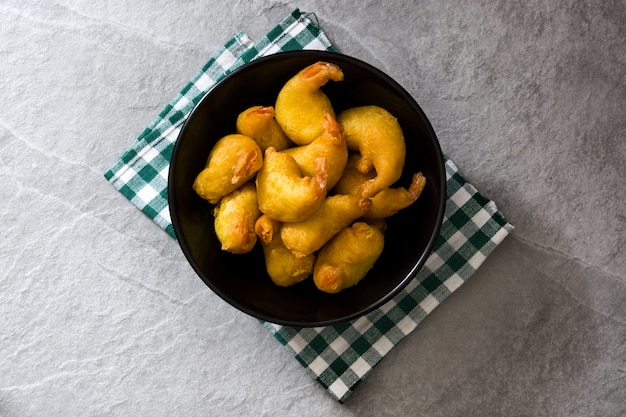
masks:
<path fill-rule="evenodd" d="M 285 223 L 280 236 L 296 257 L 307 256 L 320 249 L 341 229 L 363 216 L 370 204 L 370 200 L 357 194 L 326 197 L 320 209 L 308 219 Z"/>

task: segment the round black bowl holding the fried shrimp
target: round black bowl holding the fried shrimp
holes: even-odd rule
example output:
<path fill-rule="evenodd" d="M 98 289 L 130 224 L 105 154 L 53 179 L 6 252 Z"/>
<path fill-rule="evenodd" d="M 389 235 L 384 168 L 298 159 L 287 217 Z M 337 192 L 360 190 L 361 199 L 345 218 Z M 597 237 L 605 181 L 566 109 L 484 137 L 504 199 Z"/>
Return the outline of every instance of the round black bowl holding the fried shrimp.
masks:
<path fill-rule="evenodd" d="M 416 203 L 388 219 L 385 249 L 356 286 L 338 294 L 315 288 L 312 279 L 288 288 L 276 286 L 265 271 L 260 244 L 245 255 L 220 249 L 213 227 L 213 206 L 192 189 L 209 151 L 234 133 L 235 119 L 253 105 L 274 105 L 282 85 L 317 61 L 332 62 L 344 81 L 323 90 L 335 111 L 378 105 L 398 118 L 407 158 L 398 186 L 408 186 L 421 171 L 426 187 Z M 358 59 L 321 51 L 292 51 L 258 58 L 219 82 L 186 120 L 172 155 L 169 206 L 178 242 L 193 269 L 222 299 L 258 319 L 281 325 L 317 327 L 355 319 L 396 295 L 423 266 L 439 235 L 446 178 L 439 142 L 426 115 L 397 82 Z"/>

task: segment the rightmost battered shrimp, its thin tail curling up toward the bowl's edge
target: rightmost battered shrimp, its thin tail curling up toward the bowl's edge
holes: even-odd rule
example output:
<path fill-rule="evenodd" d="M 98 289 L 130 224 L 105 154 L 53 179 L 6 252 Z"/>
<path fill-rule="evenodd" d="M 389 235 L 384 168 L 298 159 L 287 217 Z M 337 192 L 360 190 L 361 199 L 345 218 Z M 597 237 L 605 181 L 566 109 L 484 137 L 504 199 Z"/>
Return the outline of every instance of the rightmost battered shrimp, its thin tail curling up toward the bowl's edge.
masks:
<path fill-rule="evenodd" d="M 413 174 L 409 188 L 385 188 L 372 197 L 372 207 L 363 216 L 366 219 L 384 219 L 413 204 L 422 194 L 426 177 L 421 172 Z"/>

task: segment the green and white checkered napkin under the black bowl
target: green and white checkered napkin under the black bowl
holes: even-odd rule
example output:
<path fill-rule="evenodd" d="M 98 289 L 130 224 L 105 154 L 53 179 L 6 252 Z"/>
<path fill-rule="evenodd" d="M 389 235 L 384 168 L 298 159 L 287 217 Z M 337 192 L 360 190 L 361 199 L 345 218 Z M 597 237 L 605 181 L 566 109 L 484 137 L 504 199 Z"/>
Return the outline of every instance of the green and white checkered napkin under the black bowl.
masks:
<path fill-rule="evenodd" d="M 169 160 L 185 117 L 225 75 L 259 56 L 294 49 L 336 51 L 310 15 L 294 10 L 263 39 L 229 40 L 105 174 L 174 237 L 167 203 Z M 305 369 L 345 401 L 381 359 L 482 264 L 513 226 L 446 159 L 448 200 L 441 235 L 424 268 L 393 300 L 354 321 L 320 328 L 264 322 Z"/>

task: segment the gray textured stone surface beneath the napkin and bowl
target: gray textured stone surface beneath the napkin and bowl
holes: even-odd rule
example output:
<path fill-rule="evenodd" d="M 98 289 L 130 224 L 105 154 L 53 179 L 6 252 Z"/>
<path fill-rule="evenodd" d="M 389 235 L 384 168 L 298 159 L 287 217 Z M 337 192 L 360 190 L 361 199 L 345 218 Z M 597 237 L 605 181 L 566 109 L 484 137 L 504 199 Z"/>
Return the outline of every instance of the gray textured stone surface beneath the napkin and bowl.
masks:
<path fill-rule="evenodd" d="M 626 414 L 624 1 L 0 1 L 0 416 Z M 336 403 L 102 174 L 300 7 L 515 224 Z"/>

